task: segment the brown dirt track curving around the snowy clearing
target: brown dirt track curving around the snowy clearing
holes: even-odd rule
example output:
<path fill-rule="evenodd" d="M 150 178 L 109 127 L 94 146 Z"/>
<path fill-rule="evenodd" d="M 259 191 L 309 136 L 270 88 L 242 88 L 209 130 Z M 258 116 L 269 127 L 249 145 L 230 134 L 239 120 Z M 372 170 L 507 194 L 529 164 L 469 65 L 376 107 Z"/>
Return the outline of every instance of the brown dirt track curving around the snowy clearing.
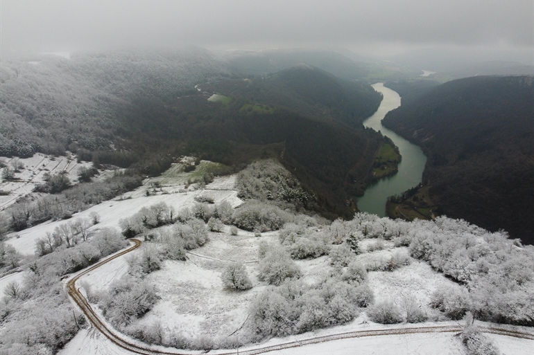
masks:
<path fill-rule="evenodd" d="M 81 311 L 85 314 L 89 322 L 94 325 L 96 329 L 101 331 L 101 333 L 108 339 L 111 340 L 112 343 L 115 345 L 129 350 L 130 352 L 133 352 L 135 354 L 144 354 L 144 355 L 155 355 L 155 354 L 168 354 L 168 355 L 191 355 L 191 352 L 189 353 L 183 353 L 180 352 L 180 350 L 173 350 L 173 349 L 166 349 L 166 350 L 160 350 L 160 349 L 153 349 L 149 345 L 142 345 L 138 342 L 133 342 L 132 340 L 128 340 L 126 338 L 122 338 L 122 334 L 120 334 L 115 329 L 112 329 L 111 327 L 108 327 L 101 318 L 96 314 L 95 311 L 93 311 L 91 305 L 85 297 L 76 289 L 76 281 L 80 279 L 83 275 L 86 275 L 87 273 L 94 271 L 96 268 L 102 266 L 103 264 L 110 262 L 111 260 L 116 259 L 117 257 L 121 257 L 122 255 L 125 255 L 126 253 L 130 253 L 130 251 L 135 251 L 135 249 L 139 248 L 141 246 L 141 242 L 137 239 L 130 239 L 131 242 L 133 242 L 134 245 L 132 245 L 130 248 L 121 251 L 121 253 L 117 253 L 113 255 L 112 257 L 108 257 L 105 260 L 102 260 L 101 262 L 98 262 L 97 264 L 94 264 L 93 266 L 87 268 L 87 270 L 83 271 L 82 273 L 79 273 L 78 275 L 72 277 L 69 282 L 67 282 L 67 292 L 71 296 L 71 298 L 78 304 L 78 307 L 80 307 Z M 492 326 L 482 326 L 482 330 L 485 333 L 491 333 L 491 334 L 500 334 L 505 336 L 513 336 L 515 338 L 525 338 L 525 339 L 533 339 L 534 340 L 534 334 L 524 332 L 524 331 L 515 331 L 513 329 L 507 329 L 506 327 L 501 327 L 499 325 L 492 325 Z M 317 344 L 317 343 L 324 343 L 331 340 L 340 340 L 340 339 L 347 339 L 347 338 L 363 338 L 367 336 L 390 336 L 390 335 L 399 335 L 399 334 L 416 334 L 416 333 L 450 333 L 450 332 L 459 332 L 462 331 L 463 327 L 461 325 L 443 325 L 443 326 L 431 326 L 431 327 L 404 327 L 404 328 L 398 328 L 398 329 L 375 329 L 375 330 L 360 330 L 360 331 L 347 331 L 344 333 L 339 334 L 331 334 L 328 336 L 317 336 L 313 338 L 308 338 L 304 340 L 295 340 L 295 341 L 289 341 L 287 343 L 277 344 L 277 345 L 270 345 L 265 347 L 258 347 L 255 349 L 248 349 L 248 350 L 239 350 L 240 354 L 243 355 L 255 355 L 255 354 L 263 354 L 266 352 L 273 352 L 276 350 L 282 350 L 282 349 L 290 349 L 292 347 L 300 347 L 302 345 L 311 345 L 311 344 Z M 228 352 L 217 352 L 217 355 L 230 355 L 235 354 L 236 351 L 234 349 L 228 349 Z"/>

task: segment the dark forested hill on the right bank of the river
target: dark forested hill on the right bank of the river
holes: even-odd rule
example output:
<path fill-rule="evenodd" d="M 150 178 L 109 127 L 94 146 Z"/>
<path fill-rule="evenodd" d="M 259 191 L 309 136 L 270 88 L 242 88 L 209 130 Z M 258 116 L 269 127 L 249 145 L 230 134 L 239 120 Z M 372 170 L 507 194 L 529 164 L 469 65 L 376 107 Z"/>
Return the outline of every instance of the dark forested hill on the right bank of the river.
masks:
<path fill-rule="evenodd" d="M 533 77 L 447 82 L 383 123 L 426 152 L 423 183 L 443 214 L 534 243 Z"/>

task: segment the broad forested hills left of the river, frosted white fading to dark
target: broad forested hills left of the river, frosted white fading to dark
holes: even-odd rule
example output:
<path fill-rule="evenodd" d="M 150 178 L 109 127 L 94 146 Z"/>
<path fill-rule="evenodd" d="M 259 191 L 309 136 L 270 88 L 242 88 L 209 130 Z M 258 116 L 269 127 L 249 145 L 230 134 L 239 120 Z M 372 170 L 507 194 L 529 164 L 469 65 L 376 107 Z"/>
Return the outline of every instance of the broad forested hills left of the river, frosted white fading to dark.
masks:
<path fill-rule="evenodd" d="M 363 193 L 384 143 L 361 125 L 381 95 L 308 64 L 247 77 L 189 48 L 36 55 L 3 61 L 0 73 L 0 156 L 69 150 L 120 167 L 143 161 L 143 174 L 182 154 L 236 166 L 276 157 L 330 217 L 352 215 L 347 199 Z"/>

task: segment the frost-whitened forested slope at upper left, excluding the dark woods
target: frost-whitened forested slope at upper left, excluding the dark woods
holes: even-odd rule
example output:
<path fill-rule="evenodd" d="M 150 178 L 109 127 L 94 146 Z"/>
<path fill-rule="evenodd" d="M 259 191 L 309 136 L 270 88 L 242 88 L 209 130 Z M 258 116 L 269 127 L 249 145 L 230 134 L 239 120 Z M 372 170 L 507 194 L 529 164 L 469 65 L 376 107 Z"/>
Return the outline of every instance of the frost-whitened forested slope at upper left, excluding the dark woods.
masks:
<path fill-rule="evenodd" d="M 126 112 L 162 106 L 221 73 L 201 48 L 173 53 L 77 53 L 70 60 L 33 55 L 0 66 L 0 155 L 31 156 L 121 148 Z M 124 147 L 130 149 L 130 145 Z"/>

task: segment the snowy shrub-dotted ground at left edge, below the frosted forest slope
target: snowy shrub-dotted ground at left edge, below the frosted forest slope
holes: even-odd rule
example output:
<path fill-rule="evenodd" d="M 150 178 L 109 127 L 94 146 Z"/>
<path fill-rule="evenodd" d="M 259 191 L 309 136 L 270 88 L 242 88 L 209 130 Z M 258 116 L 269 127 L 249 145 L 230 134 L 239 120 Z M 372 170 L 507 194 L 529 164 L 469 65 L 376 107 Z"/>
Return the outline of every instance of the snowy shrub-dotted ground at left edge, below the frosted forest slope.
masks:
<path fill-rule="evenodd" d="M 0 160 L 11 168 L 13 159 L 0 157 Z M 25 197 L 33 191 L 35 184 L 44 181 L 44 174 L 47 172 L 51 175 L 58 172 L 65 172 L 72 183 L 78 181 L 78 169 L 80 167 L 90 167 L 92 163 L 76 161 L 76 156 L 48 156 L 46 154 L 36 153 L 31 158 L 20 158 L 19 161 L 24 164 L 24 169 L 15 172 L 15 178 L 18 181 L 2 181 L 0 190 L 9 192 L 6 196 L 0 196 L 0 211 L 11 206 L 20 197 Z"/>

